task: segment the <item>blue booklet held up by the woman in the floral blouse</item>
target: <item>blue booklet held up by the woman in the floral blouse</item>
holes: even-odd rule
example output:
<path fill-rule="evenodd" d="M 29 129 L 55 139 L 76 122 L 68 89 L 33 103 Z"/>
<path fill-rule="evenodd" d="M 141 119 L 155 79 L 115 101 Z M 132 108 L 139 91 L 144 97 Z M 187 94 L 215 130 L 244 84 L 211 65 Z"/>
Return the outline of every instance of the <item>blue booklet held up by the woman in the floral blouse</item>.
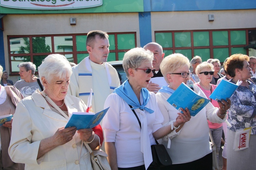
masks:
<path fill-rule="evenodd" d="M 238 86 L 242 83 L 242 81 L 237 81 L 237 84 L 234 84 L 232 82 L 222 80 L 221 83 L 215 88 L 215 90 L 210 95 L 210 98 L 213 100 L 226 100 L 227 98 L 230 98 L 233 93 L 237 90 Z"/>

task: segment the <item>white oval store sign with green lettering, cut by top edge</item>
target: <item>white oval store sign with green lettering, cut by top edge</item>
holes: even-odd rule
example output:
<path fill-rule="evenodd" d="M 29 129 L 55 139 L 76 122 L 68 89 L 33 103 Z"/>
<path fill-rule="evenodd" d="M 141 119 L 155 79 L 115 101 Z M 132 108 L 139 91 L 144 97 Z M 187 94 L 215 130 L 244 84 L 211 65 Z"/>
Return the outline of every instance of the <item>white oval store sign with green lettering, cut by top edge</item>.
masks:
<path fill-rule="evenodd" d="M 28 10 L 70 10 L 102 5 L 102 0 L 0 0 L 8 8 Z"/>

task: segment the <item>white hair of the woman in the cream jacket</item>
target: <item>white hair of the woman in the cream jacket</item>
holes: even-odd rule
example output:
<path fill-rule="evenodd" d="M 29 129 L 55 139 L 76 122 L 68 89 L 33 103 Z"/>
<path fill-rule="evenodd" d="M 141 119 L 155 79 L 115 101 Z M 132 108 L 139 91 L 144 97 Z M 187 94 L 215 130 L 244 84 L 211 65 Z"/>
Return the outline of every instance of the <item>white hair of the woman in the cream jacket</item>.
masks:
<path fill-rule="evenodd" d="M 72 69 L 67 58 L 61 54 L 50 54 L 38 67 L 39 77 L 44 77 L 49 83 L 53 77 L 65 79 L 72 74 Z M 40 79 L 41 83 L 42 80 Z"/>

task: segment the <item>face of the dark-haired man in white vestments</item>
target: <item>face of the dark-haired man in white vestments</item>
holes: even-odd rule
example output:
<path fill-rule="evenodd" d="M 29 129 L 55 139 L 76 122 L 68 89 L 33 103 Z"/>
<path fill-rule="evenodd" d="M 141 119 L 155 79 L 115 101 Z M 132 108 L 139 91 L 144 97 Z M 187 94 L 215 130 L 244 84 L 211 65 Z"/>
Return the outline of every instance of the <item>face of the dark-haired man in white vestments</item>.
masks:
<path fill-rule="evenodd" d="M 109 55 L 109 39 L 100 39 L 99 35 L 96 35 L 91 46 L 86 47 L 90 60 L 97 64 L 106 62 Z"/>

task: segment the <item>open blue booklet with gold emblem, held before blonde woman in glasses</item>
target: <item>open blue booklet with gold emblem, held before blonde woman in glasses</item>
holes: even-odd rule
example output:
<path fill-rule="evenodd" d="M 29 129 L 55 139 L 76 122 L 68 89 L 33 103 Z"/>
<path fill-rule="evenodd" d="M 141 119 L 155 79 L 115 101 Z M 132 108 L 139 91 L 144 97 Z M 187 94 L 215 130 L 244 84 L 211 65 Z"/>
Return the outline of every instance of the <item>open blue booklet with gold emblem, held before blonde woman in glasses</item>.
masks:
<path fill-rule="evenodd" d="M 191 90 L 185 83 L 182 83 L 173 94 L 167 99 L 167 102 L 175 107 L 179 112 L 181 108 L 188 108 L 190 115 L 195 116 L 210 100 L 205 99 Z"/>

